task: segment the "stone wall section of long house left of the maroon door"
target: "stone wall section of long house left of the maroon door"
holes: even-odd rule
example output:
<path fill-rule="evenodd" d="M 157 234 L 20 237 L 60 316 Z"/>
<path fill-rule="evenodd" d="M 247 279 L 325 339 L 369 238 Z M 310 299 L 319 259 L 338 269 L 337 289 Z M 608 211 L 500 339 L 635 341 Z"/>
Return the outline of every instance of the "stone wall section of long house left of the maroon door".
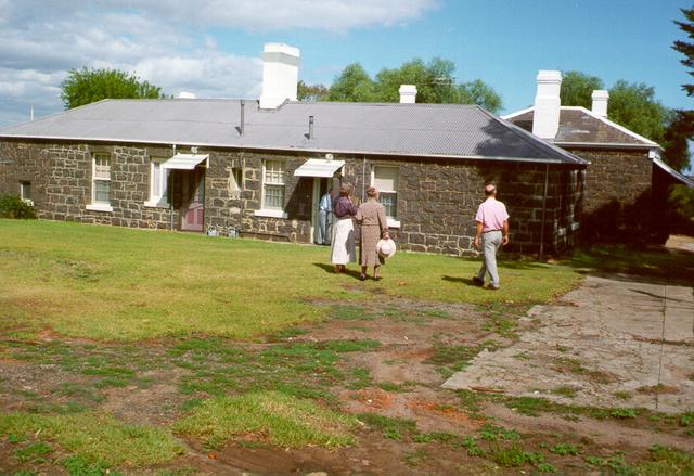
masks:
<path fill-rule="evenodd" d="M 111 157 L 113 211 L 88 209 L 92 153 Z M 169 209 L 147 207 L 144 203 L 150 194 L 150 156 L 170 155 L 170 147 L 2 141 L 0 194 L 16 194 L 20 180 L 29 181 L 39 218 L 167 229 Z"/>

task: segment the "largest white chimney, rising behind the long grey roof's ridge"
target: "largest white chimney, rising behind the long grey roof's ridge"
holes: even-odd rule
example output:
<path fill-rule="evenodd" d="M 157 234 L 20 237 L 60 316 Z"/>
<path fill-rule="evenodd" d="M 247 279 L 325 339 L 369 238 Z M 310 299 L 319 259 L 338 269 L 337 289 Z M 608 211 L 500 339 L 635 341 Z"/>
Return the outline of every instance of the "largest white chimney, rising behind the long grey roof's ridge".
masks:
<path fill-rule="evenodd" d="M 296 101 L 299 79 L 299 49 L 283 43 L 265 43 L 260 107 L 275 110 L 285 100 Z"/>

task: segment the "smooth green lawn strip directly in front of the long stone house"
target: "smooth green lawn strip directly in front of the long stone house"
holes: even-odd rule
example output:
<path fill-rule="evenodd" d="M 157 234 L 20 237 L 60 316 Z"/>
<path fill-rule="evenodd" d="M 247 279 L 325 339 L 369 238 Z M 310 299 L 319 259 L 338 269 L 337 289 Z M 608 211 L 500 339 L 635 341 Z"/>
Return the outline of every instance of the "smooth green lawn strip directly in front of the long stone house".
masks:
<path fill-rule="evenodd" d="M 501 265 L 502 290 L 470 283 L 477 259 L 399 253 L 381 282 L 336 275 L 325 247 L 67 222 L 0 220 L 2 331 L 30 337 L 253 339 L 326 318 L 329 301 L 374 293 L 442 303 L 551 300 L 569 267 Z M 352 270 L 356 268 L 352 265 Z"/>

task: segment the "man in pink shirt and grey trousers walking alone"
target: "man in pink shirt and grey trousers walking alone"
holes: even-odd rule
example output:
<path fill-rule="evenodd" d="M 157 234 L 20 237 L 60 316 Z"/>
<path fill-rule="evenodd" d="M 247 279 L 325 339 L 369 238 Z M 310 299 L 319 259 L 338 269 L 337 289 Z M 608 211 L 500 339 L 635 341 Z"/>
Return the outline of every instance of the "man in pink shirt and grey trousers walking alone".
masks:
<path fill-rule="evenodd" d="M 497 253 L 502 245 L 509 244 L 509 214 L 506 206 L 497 200 L 497 188 L 492 184 L 485 186 L 487 200 L 477 208 L 475 221 L 475 247 L 479 248 L 480 239 L 485 260 L 479 272 L 473 278 L 473 283 L 485 285 L 485 274 L 489 273 L 491 282 L 488 290 L 499 288 L 499 273 L 497 272 Z"/>

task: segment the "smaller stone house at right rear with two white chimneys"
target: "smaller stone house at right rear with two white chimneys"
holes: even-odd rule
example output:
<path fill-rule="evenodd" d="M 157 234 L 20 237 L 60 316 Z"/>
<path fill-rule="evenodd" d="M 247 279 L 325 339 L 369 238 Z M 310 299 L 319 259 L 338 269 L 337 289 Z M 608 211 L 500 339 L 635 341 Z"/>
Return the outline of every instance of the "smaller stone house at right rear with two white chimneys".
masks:
<path fill-rule="evenodd" d="M 591 111 L 562 106 L 561 82 L 560 72 L 541 70 L 534 106 L 504 119 L 590 163 L 581 240 L 664 241 L 668 223 L 663 217 L 670 185 L 694 186 L 694 181 L 660 159 L 660 145 L 607 119 L 607 91 L 593 91 Z"/>

